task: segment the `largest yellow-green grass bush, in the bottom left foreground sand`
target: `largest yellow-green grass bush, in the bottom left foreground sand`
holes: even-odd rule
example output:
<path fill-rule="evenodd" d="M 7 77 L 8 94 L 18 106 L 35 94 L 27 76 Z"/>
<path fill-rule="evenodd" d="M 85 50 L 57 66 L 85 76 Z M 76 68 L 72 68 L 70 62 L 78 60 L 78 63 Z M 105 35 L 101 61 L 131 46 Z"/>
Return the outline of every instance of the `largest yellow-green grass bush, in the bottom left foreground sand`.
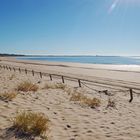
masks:
<path fill-rule="evenodd" d="M 13 129 L 22 136 L 39 136 L 49 128 L 49 119 L 42 113 L 21 112 L 13 119 Z"/>

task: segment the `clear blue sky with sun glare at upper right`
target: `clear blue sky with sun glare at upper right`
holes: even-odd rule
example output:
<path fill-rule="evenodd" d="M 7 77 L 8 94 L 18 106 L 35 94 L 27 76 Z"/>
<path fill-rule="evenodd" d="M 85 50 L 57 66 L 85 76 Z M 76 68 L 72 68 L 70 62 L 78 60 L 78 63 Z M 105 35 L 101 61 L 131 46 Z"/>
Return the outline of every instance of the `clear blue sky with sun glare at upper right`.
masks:
<path fill-rule="evenodd" d="M 140 0 L 0 0 L 0 53 L 140 55 Z"/>

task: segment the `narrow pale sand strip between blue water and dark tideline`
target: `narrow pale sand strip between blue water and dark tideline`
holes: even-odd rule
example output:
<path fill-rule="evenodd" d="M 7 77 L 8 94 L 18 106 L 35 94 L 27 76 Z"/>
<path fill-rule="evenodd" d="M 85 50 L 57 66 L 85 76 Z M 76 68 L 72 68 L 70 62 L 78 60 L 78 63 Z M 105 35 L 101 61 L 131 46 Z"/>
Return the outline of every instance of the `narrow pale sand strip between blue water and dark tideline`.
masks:
<path fill-rule="evenodd" d="M 22 60 L 16 59 L 16 57 L 0 57 L 0 60 L 24 63 L 24 64 L 35 64 L 35 65 L 48 65 L 48 66 L 62 66 L 62 67 L 79 67 L 85 69 L 104 69 L 112 71 L 128 71 L 140 73 L 140 65 L 132 64 L 91 64 L 91 63 L 79 63 L 79 62 L 62 62 L 62 61 L 47 61 L 47 60 Z"/>

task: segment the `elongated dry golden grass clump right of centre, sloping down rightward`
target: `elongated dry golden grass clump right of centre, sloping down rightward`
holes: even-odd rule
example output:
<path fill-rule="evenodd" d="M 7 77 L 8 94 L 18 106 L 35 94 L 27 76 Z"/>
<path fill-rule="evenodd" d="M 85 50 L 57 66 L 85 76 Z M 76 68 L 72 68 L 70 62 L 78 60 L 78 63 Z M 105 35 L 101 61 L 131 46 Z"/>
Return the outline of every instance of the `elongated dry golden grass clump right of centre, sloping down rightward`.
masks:
<path fill-rule="evenodd" d="M 97 98 L 88 98 L 85 95 L 82 95 L 81 93 L 74 93 L 72 94 L 70 101 L 79 101 L 80 104 L 87 105 L 91 108 L 99 107 L 101 104 L 101 101 Z"/>

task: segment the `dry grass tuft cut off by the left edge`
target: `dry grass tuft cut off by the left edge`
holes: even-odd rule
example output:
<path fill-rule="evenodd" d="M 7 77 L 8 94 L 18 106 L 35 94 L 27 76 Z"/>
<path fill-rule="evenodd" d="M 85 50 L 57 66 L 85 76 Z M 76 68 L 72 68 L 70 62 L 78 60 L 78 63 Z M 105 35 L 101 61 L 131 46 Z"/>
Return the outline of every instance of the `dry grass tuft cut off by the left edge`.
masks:
<path fill-rule="evenodd" d="M 0 94 L 0 100 L 2 101 L 11 101 L 17 96 L 16 92 L 11 93 L 2 93 Z"/>

